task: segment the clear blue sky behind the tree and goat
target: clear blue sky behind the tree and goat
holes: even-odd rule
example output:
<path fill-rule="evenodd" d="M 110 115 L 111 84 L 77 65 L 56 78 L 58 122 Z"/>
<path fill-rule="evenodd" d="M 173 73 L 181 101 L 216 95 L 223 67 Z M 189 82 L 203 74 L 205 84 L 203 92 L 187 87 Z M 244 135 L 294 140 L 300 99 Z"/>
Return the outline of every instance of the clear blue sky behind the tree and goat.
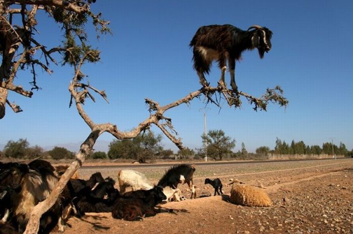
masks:
<path fill-rule="evenodd" d="M 226 103 L 221 109 L 214 105 L 204 109 L 203 99 L 195 99 L 165 113 L 184 145 L 201 147 L 206 111 L 207 129 L 222 129 L 236 139 L 235 151 L 242 142 L 248 151 L 259 146 L 272 149 L 276 137 L 320 146 L 333 140 L 353 148 L 352 1 L 97 1 L 92 9 L 110 20 L 113 32 L 97 40 L 93 27 L 88 27 L 90 42 L 101 50 L 101 62 L 85 66 L 83 72 L 109 99 L 109 104 L 98 96 L 96 103 L 86 102 L 96 123 L 130 130 L 149 114 L 144 98 L 164 105 L 199 89 L 189 43 L 200 26 L 232 24 L 246 30 L 258 24 L 272 30 L 272 49 L 263 60 L 255 50 L 243 53 L 236 68 L 238 87 L 260 96 L 266 88 L 280 85 L 289 105 L 284 109 L 270 104 L 267 112 L 255 112 L 243 100 L 241 109 Z M 60 28 L 40 17 L 39 40 L 58 45 Z M 7 108 L 0 121 L 0 149 L 9 140 L 27 138 L 31 145 L 42 147 L 72 143 L 71 150 L 77 151 L 88 136 L 90 129 L 77 110 L 68 108 L 73 70 L 50 68 L 54 70 L 50 76 L 38 72 L 42 90 L 32 98 L 10 93 L 10 101 L 24 111 L 16 114 Z M 219 75 L 214 64 L 206 79 L 216 85 Z M 18 83 L 30 88 L 29 77 L 19 73 Z M 112 139 L 103 134 L 97 149 L 106 148 Z M 166 138 L 163 144 L 177 150 Z"/>

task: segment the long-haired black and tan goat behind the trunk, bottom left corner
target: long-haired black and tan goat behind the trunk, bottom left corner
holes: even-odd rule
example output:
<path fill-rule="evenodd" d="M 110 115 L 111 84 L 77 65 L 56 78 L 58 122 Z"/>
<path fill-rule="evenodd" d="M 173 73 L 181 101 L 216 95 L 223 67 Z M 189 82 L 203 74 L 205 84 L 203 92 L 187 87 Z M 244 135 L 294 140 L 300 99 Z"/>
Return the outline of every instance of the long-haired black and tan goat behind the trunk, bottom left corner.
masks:
<path fill-rule="evenodd" d="M 23 163 L 2 164 L 0 185 L 8 186 L 15 191 L 18 190 L 18 192 L 12 193 L 10 199 L 11 212 L 19 232 L 25 229 L 31 209 L 49 196 L 56 183 L 57 179 L 51 165 L 49 166 L 46 161 L 33 161 L 30 166 Z M 10 190 L 8 192 L 11 193 Z M 60 199 L 58 199 L 54 206 L 42 215 L 40 232 L 49 232 L 56 223 L 60 225 L 60 230 L 64 230 L 62 223 L 58 222 L 60 209 Z"/>

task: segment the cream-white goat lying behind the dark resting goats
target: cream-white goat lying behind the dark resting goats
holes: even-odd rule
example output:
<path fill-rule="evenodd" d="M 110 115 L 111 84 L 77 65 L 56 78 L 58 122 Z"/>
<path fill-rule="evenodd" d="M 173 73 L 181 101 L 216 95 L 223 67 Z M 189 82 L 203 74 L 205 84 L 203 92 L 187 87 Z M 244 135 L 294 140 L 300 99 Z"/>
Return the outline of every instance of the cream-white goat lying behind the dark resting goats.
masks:
<path fill-rule="evenodd" d="M 136 170 L 121 170 L 117 174 L 117 178 L 119 180 L 121 194 L 124 194 L 128 187 L 132 187 L 133 191 L 140 189 L 149 190 L 153 188 L 153 185 L 146 176 Z"/>

